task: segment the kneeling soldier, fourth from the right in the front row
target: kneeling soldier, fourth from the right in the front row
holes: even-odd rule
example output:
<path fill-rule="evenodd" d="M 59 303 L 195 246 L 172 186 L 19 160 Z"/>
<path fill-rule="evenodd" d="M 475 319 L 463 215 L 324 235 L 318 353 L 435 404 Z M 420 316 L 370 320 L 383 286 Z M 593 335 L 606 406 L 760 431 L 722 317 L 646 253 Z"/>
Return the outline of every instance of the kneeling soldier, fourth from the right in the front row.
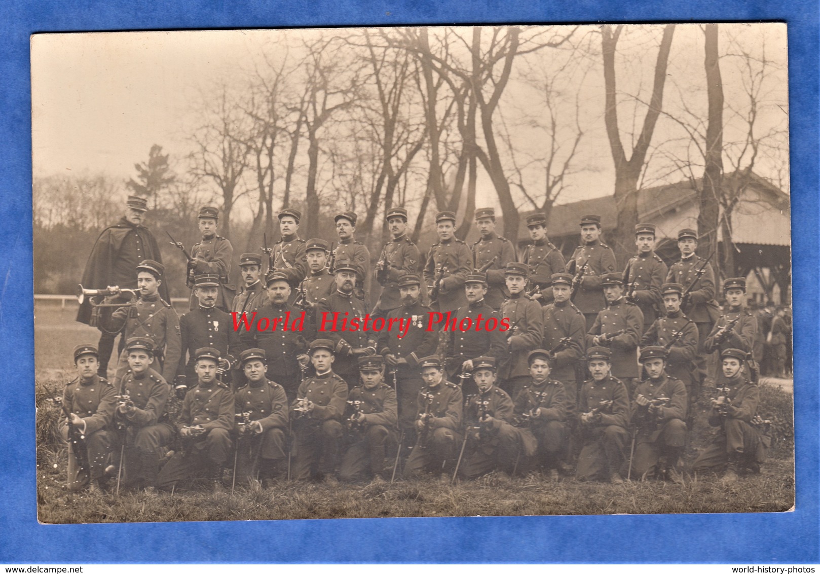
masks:
<path fill-rule="evenodd" d="M 567 395 L 560 380 L 549 378 L 553 364 L 549 351 L 536 348 L 527 354 L 527 362 L 531 378 L 513 401 L 524 449 L 518 471 L 526 474 L 531 468 L 543 467 L 555 481 L 567 439 Z"/>

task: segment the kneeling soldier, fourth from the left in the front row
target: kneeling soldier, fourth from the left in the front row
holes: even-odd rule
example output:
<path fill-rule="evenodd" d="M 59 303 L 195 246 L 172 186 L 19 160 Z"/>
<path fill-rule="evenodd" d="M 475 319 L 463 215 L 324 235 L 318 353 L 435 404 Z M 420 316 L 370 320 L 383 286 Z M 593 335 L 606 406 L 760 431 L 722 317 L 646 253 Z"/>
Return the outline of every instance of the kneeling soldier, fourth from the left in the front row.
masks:
<path fill-rule="evenodd" d="M 248 348 L 240 357 L 248 385 L 236 391 L 236 417 L 239 422 L 239 476 L 258 484 L 270 481 L 285 471 L 285 432 L 288 430 L 288 398 L 285 389 L 267 380 L 265 351 Z"/>

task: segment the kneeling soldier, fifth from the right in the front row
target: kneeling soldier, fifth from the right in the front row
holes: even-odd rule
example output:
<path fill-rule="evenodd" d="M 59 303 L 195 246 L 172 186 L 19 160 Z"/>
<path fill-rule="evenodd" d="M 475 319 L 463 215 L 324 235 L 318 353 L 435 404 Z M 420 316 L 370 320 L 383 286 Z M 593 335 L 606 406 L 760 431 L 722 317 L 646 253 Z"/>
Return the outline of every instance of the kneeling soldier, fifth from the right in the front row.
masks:
<path fill-rule="evenodd" d="M 478 394 L 467 399 L 465 440 L 470 449 L 461 465 L 461 476 L 476 478 L 498 468 L 512 475 L 515 471 L 520 437 L 512 426 L 512 399 L 495 386 L 495 359 L 473 359 L 472 377 Z"/>

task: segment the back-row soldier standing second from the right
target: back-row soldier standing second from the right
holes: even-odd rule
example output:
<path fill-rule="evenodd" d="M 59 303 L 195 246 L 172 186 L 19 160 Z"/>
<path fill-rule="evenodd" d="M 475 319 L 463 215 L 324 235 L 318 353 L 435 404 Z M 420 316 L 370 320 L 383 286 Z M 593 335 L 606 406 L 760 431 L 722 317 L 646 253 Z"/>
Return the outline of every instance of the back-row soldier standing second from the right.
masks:
<path fill-rule="evenodd" d="M 658 318 L 661 303 L 661 285 L 667 276 L 667 266 L 655 253 L 655 226 L 651 223 L 635 225 L 637 255 L 626 262 L 623 285 L 626 297 L 640 307 L 644 314 L 644 329 L 649 329 Z M 643 335 L 643 333 L 641 333 Z"/>

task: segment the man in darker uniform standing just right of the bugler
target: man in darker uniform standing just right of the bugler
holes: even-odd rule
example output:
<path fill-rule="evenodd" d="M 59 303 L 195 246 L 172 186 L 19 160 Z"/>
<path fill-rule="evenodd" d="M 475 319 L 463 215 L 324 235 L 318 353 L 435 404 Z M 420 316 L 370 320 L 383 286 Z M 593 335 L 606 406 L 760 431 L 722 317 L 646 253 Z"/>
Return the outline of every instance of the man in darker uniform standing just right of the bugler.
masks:
<path fill-rule="evenodd" d="M 198 275 L 194 279 L 194 297 L 199 307 L 180 317 L 182 354 L 180 366 L 176 369 L 175 389 L 188 386 L 188 381 L 196 379 L 194 364 L 198 348 L 213 347 L 220 353 L 221 376 L 230 376 L 231 364 L 235 362 L 239 346 L 239 333 L 234 330 L 233 317 L 216 308 L 219 297 L 219 277 Z M 188 362 L 185 362 L 187 353 Z M 223 380 L 230 385 L 230 380 Z"/>

